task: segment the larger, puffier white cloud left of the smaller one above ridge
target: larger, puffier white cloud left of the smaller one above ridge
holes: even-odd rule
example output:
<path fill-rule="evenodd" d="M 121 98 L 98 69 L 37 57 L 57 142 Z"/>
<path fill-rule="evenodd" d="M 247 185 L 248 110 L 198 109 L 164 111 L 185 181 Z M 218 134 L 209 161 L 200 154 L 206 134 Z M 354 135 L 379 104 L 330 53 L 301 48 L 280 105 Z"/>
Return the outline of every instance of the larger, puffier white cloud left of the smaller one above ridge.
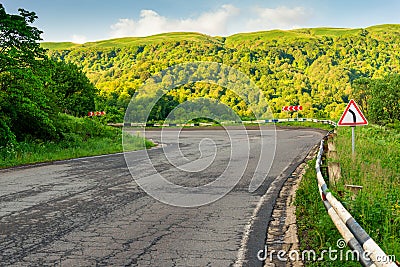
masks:
<path fill-rule="evenodd" d="M 228 34 L 229 21 L 239 14 L 233 5 L 205 12 L 197 18 L 172 19 L 159 15 L 153 10 L 142 10 L 138 20 L 120 19 L 111 26 L 112 37 L 148 36 L 163 32 L 201 32 L 209 35 Z"/>

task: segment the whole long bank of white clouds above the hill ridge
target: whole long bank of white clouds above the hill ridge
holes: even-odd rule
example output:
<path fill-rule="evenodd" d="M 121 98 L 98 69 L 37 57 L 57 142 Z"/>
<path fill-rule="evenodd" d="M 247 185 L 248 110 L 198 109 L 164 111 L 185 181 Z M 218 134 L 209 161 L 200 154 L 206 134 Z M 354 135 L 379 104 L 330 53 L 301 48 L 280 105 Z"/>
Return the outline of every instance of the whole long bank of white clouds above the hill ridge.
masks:
<path fill-rule="evenodd" d="M 250 7 L 240 10 L 233 5 L 204 12 L 194 18 L 168 18 L 154 10 L 142 10 L 137 20 L 119 19 L 111 25 L 111 37 L 149 36 L 165 32 L 201 32 L 227 36 L 241 31 L 291 29 L 303 26 L 311 10 L 304 7 Z"/>

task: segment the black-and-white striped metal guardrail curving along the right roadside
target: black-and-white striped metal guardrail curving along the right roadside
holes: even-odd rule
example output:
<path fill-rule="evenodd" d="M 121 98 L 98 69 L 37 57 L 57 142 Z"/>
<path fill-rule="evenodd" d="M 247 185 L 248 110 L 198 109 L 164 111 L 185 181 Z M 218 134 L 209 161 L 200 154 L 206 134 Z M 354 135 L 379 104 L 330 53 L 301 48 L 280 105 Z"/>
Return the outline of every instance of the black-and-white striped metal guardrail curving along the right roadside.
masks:
<path fill-rule="evenodd" d="M 324 138 L 326 139 L 326 137 Z M 363 266 L 397 267 L 395 262 L 376 244 L 376 242 L 357 223 L 353 216 L 343 207 L 328 190 L 321 173 L 321 161 L 324 153 L 324 140 L 321 141 L 315 169 L 317 172 L 318 189 L 325 208 L 336 228 L 346 241 L 347 245 L 360 255 L 359 261 Z"/>

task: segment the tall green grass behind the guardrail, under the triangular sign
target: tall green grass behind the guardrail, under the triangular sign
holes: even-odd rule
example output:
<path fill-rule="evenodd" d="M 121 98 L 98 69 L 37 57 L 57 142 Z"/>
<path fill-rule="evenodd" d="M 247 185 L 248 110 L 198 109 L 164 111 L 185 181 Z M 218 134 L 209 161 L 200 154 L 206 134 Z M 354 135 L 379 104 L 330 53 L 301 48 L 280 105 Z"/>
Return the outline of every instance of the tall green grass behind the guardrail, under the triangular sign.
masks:
<path fill-rule="evenodd" d="M 361 185 L 344 205 L 367 233 L 390 255 L 400 259 L 400 129 L 357 127 L 356 156 L 351 154 L 351 130 L 339 128 L 335 141 L 345 184 Z"/>

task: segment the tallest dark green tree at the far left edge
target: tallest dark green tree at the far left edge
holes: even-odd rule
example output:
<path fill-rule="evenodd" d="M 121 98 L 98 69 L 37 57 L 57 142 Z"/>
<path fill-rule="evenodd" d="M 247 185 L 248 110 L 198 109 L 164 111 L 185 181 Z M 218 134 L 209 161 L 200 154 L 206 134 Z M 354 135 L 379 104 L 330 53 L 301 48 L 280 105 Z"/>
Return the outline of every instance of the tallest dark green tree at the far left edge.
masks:
<path fill-rule="evenodd" d="M 7 14 L 0 4 L 0 147 L 15 143 L 23 136 L 54 138 L 52 103 L 43 85 L 48 82 L 44 62 L 47 57 L 37 42 L 40 30 L 29 24 L 34 12 L 19 9 L 19 15 Z"/>

